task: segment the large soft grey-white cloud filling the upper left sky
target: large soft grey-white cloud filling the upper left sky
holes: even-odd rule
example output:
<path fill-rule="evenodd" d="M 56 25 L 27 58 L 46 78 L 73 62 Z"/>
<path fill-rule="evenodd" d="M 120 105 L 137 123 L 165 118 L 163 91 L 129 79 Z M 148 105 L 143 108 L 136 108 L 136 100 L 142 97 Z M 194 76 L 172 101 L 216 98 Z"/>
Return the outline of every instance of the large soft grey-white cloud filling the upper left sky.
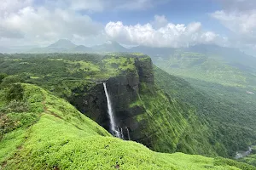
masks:
<path fill-rule="evenodd" d="M 88 15 L 76 13 L 70 8 L 32 6 L 31 0 L 26 0 L 24 4 L 15 1 L 14 4 L 4 1 L 5 5 L 1 7 L 5 13 L 0 15 L 0 45 L 11 45 L 13 42 L 44 45 L 60 38 L 84 38 L 90 42 L 90 38 L 102 35 L 102 24 L 91 20 Z"/>

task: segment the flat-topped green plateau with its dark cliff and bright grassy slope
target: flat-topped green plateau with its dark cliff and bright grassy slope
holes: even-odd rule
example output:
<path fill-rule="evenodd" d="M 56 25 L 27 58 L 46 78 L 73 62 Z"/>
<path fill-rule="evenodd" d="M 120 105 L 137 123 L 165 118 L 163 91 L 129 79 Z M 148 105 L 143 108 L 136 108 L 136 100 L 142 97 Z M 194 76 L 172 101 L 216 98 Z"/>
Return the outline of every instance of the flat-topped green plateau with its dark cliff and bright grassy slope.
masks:
<path fill-rule="evenodd" d="M 9 86 L 9 82 L 29 82 L 47 88 L 109 130 L 102 85 L 107 82 L 118 126 L 128 127 L 132 140 L 156 151 L 207 156 L 218 155 L 216 148 L 224 147 L 215 148 L 208 142 L 209 129 L 195 115 L 195 108 L 170 99 L 155 87 L 151 59 L 146 55 L 34 56 L 5 55 L 1 71 L 20 76 L 6 77 L 2 86 Z M 126 131 L 124 135 L 127 139 Z"/>

